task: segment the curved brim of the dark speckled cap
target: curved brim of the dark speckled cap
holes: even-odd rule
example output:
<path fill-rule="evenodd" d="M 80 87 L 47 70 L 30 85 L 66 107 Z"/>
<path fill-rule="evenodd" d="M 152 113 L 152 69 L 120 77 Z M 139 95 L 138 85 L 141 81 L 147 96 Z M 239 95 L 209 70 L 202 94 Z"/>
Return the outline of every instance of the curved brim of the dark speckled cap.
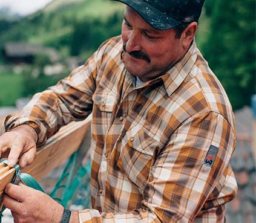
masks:
<path fill-rule="evenodd" d="M 177 27 L 182 22 L 162 13 L 162 11 L 154 8 L 145 1 L 133 0 L 112 0 L 122 2 L 133 8 L 142 18 L 156 30 L 169 30 Z"/>

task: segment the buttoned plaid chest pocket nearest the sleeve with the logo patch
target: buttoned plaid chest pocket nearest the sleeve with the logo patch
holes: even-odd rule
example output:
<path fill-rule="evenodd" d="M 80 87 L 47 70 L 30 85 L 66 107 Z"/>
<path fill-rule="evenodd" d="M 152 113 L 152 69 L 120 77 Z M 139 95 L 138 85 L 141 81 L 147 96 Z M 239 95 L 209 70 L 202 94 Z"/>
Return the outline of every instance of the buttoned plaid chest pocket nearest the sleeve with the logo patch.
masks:
<path fill-rule="evenodd" d="M 159 141 L 149 136 L 144 128 L 132 128 L 123 138 L 117 167 L 132 181 L 141 193 L 149 176 L 154 151 Z"/>

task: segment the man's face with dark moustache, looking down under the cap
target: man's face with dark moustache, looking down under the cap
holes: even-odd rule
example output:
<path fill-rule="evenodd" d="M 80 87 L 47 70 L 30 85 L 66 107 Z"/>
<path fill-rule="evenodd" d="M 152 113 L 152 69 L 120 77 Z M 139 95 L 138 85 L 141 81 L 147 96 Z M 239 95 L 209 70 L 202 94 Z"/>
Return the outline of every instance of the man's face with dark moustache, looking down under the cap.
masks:
<path fill-rule="evenodd" d="M 125 68 L 144 82 L 168 71 L 185 54 L 174 29 L 156 30 L 128 6 L 123 17 Z"/>

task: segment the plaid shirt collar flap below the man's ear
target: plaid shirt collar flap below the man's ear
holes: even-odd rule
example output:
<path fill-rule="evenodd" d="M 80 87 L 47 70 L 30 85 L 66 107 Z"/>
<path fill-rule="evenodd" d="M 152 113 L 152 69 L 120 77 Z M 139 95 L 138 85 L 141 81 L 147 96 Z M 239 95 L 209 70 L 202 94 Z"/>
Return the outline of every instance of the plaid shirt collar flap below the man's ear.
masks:
<path fill-rule="evenodd" d="M 163 76 L 160 78 L 163 80 L 165 89 L 170 96 L 185 80 L 195 64 L 197 59 L 197 46 L 195 40 L 185 56 L 172 66 Z"/>

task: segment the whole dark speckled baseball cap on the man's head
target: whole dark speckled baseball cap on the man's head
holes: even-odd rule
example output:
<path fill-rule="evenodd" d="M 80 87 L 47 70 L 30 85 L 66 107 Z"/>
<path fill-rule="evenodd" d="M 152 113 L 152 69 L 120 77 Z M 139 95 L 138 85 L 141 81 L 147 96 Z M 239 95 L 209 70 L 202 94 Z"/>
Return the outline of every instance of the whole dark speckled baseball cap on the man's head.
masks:
<path fill-rule="evenodd" d="M 157 30 L 168 30 L 183 22 L 199 21 L 205 0 L 113 0 L 133 8 Z"/>

